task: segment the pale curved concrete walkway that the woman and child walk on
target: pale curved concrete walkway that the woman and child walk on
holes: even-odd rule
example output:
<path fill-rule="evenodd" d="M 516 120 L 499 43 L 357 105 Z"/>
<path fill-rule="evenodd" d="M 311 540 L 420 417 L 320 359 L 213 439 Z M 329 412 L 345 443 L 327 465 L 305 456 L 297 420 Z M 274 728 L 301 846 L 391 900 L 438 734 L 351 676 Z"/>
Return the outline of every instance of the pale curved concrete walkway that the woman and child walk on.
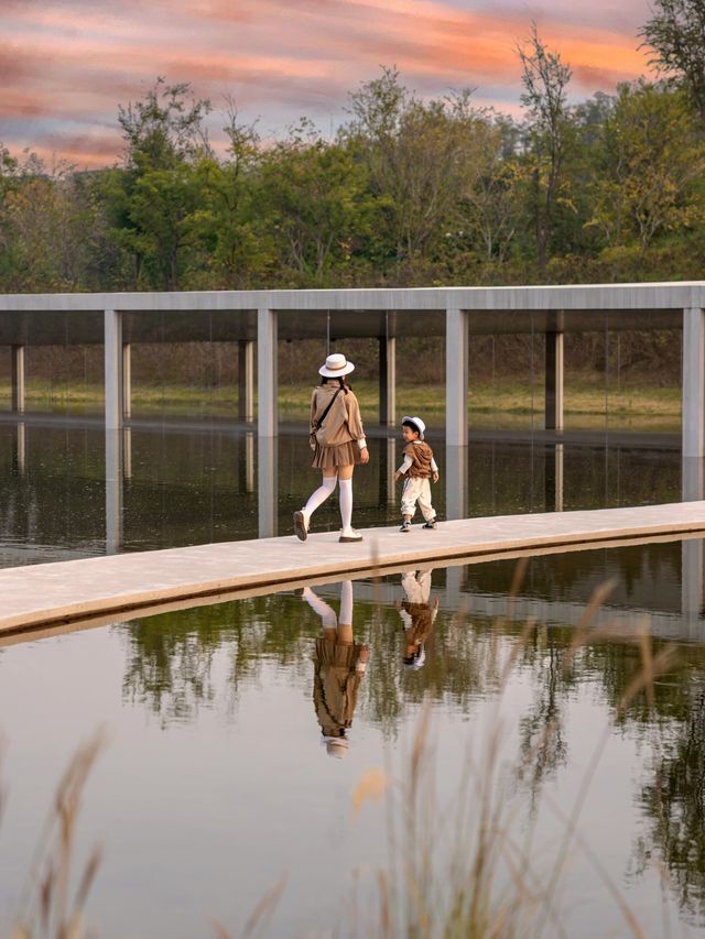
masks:
<path fill-rule="evenodd" d="M 470 564 L 498 556 L 597 547 L 657 536 L 705 535 L 705 502 L 593 512 L 553 512 L 368 528 L 360 544 L 336 533 L 198 545 L 0 570 L 0 634 L 80 620 L 129 619 L 135 610 L 184 601 L 217 602 L 234 593 L 263 593 L 306 580 L 339 580 L 375 569 Z M 209 599 L 206 599 L 209 598 Z"/>

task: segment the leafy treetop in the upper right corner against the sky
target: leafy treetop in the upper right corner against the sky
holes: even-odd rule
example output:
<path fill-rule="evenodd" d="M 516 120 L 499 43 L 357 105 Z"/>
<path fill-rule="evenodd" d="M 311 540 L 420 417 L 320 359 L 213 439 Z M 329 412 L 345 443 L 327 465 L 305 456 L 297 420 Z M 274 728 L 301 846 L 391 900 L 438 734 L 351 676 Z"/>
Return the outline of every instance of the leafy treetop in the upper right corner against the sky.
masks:
<path fill-rule="evenodd" d="M 705 121 L 705 0 L 655 0 L 639 35 L 653 50 L 649 64 L 676 79 Z"/>

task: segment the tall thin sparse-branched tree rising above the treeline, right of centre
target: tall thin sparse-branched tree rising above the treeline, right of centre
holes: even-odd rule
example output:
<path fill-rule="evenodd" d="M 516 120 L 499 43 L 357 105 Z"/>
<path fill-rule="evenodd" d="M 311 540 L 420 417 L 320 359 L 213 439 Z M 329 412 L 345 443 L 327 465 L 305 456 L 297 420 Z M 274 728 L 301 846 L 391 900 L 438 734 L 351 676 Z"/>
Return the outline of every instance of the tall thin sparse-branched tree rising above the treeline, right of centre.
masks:
<path fill-rule="evenodd" d="M 517 48 L 524 91 L 522 105 L 529 113 L 531 201 L 536 260 L 545 266 L 556 206 L 567 199 L 563 176 L 570 135 L 567 86 L 571 67 L 541 41 L 535 23 L 525 46 Z"/>

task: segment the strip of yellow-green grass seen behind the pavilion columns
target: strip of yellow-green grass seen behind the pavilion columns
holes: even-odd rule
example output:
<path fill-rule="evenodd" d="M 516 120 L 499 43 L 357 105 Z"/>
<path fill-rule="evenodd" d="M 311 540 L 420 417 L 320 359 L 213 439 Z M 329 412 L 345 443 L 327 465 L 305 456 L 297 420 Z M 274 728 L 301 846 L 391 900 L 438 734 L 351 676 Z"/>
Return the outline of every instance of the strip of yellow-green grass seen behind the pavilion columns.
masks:
<path fill-rule="evenodd" d="M 378 391 L 373 382 L 356 382 L 355 392 L 362 415 L 376 423 Z M 283 421 L 305 422 L 308 415 L 311 385 L 281 384 L 280 415 Z M 94 412 L 102 406 L 102 389 L 95 384 L 50 384 L 32 381 L 26 391 L 28 410 Z M 541 426 L 543 421 L 543 389 L 533 396 L 528 384 L 502 382 L 473 384 L 469 392 L 470 425 L 474 427 L 523 428 Z M 0 407 L 10 407 L 10 385 L 0 383 Z M 443 425 L 444 389 L 440 385 L 400 385 L 397 413 L 420 414 L 431 427 Z M 169 413 L 178 415 L 210 415 L 228 417 L 237 414 L 237 389 L 223 385 L 206 389 L 192 385 L 134 385 L 132 408 L 135 416 Z M 681 390 L 677 386 L 649 387 L 630 385 L 608 389 L 588 381 L 576 381 L 565 389 L 565 423 L 567 427 L 610 427 L 676 432 L 681 425 Z"/>

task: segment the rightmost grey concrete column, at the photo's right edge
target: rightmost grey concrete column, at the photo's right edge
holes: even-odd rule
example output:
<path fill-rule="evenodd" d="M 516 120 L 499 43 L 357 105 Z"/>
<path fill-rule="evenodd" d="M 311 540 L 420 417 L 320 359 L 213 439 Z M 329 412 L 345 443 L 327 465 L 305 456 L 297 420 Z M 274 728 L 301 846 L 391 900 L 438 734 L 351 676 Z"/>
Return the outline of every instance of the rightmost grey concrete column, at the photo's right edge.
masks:
<path fill-rule="evenodd" d="M 683 310 L 683 459 L 705 456 L 705 312 Z"/>

